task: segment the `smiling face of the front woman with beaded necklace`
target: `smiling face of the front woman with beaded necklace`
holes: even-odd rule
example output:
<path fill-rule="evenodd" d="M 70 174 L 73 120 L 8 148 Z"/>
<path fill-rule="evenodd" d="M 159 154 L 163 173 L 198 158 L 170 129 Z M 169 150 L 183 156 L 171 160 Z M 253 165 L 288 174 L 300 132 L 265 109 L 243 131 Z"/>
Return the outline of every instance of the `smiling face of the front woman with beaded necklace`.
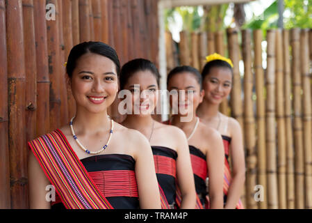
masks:
<path fill-rule="evenodd" d="M 104 112 L 118 91 L 115 63 L 99 54 L 83 54 L 76 61 L 69 84 L 77 109 L 83 107 L 93 113 Z"/>

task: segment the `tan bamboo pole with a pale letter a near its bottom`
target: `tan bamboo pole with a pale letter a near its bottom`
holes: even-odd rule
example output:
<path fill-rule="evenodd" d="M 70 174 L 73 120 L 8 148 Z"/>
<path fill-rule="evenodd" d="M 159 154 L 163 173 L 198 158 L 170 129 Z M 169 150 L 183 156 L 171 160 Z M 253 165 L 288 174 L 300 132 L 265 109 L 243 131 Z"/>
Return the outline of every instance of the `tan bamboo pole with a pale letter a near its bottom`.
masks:
<path fill-rule="evenodd" d="M 259 208 L 268 208 L 267 178 L 266 178 L 266 151 L 265 151 L 265 84 L 262 67 L 262 30 L 254 30 L 254 72 L 256 75 L 256 125 L 257 125 L 257 161 L 258 184 L 263 186 L 264 201 L 259 203 Z"/>

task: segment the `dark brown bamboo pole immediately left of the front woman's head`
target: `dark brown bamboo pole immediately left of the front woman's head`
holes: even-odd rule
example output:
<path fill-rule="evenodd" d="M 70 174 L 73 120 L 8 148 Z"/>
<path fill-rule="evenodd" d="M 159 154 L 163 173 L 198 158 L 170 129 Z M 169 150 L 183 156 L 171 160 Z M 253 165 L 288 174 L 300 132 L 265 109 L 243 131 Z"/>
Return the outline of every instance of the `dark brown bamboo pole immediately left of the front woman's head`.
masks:
<path fill-rule="evenodd" d="M 58 25 L 59 35 L 60 35 L 60 125 L 66 125 L 69 122 L 68 118 L 68 98 L 66 89 L 66 79 L 65 79 L 65 43 L 63 35 L 63 3 L 62 1 L 56 1 L 56 13 L 58 13 Z"/>

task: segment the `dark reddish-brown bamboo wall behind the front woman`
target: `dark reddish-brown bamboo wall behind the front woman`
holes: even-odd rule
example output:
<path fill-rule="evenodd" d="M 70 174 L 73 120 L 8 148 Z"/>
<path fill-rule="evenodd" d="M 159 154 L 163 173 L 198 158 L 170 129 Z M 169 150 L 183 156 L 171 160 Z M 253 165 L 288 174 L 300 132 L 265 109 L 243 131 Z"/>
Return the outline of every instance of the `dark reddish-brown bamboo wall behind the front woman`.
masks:
<path fill-rule="evenodd" d="M 48 3 L 56 6 L 56 20 L 46 18 Z M 0 208 L 28 208 L 26 141 L 74 116 L 64 66 L 70 49 L 102 41 L 115 47 L 122 64 L 138 57 L 158 64 L 157 4 L 0 0 Z"/>

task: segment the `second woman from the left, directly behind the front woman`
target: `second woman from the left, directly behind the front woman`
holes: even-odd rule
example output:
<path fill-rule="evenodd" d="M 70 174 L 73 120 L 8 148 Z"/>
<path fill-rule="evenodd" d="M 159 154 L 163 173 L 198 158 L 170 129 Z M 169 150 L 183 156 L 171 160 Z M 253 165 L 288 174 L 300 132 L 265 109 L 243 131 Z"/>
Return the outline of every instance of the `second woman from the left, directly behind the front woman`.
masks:
<path fill-rule="evenodd" d="M 151 61 L 135 59 L 122 67 L 120 89 L 130 92 L 128 113 L 122 125 L 139 130 L 149 140 L 162 195 L 162 207 L 195 208 L 195 185 L 186 135 L 182 130 L 154 121 L 158 100 L 159 73 Z M 126 99 L 125 99 L 126 100 Z M 181 190 L 176 201 L 176 183 Z"/>

